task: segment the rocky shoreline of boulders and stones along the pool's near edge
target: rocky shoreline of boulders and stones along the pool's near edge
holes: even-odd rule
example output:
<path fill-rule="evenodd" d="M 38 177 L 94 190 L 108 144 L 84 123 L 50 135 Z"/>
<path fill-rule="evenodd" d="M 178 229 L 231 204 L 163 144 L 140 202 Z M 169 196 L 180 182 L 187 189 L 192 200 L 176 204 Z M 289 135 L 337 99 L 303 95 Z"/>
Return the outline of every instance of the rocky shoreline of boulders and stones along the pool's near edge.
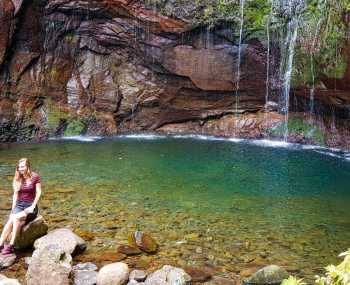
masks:
<path fill-rule="evenodd" d="M 160 246 L 149 234 L 140 231 L 129 236 L 128 245 L 118 247 L 110 262 L 98 267 L 94 263 L 96 260 L 79 263 L 79 255 L 88 248 L 81 237 L 68 228 L 58 228 L 50 232 L 47 229 L 48 226 L 41 216 L 27 225 L 21 239 L 16 243 L 16 252 L 34 247 L 31 257 L 23 258 L 20 254 L 19 257 L 15 254 L 0 255 L 1 270 L 5 270 L 5 274 L 11 273 L 12 266 L 22 264 L 21 260 L 24 259 L 27 271 L 22 284 L 27 285 L 266 285 L 280 284 L 289 275 L 276 265 L 255 269 L 256 272 L 253 269 L 241 276 L 230 272 L 216 272 L 209 266 L 182 269 L 176 265 L 163 265 L 155 271 L 140 270 L 136 264 L 128 262 L 127 257 L 142 253 L 156 255 Z M 122 262 L 123 260 L 126 262 Z M 0 274 L 0 284 L 21 283 Z"/>

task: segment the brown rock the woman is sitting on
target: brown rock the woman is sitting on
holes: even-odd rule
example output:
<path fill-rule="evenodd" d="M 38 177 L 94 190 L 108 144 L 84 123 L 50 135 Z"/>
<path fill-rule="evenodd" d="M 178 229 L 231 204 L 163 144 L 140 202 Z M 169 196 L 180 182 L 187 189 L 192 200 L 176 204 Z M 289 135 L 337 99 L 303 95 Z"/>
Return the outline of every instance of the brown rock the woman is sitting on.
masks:
<path fill-rule="evenodd" d="M 21 234 L 16 240 L 15 247 L 26 249 L 32 247 L 35 240 L 47 234 L 48 225 L 42 216 L 37 216 L 35 220 L 25 225 Z"/>

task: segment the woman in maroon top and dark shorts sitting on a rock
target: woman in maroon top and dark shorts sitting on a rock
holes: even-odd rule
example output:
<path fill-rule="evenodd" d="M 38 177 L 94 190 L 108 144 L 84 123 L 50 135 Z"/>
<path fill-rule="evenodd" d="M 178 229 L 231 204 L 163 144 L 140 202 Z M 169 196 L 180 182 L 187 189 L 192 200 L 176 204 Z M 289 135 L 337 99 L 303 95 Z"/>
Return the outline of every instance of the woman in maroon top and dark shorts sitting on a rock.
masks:
<path fill-rule="evenodd" d="M 14 253 L 16 237 L 22 226 L 33 221 L 38 214 L 37 204 L 41 195 L 40 176 L 31 170 L 27 158 L 22 158 L 17 163 L 13 190 L 11 215 L 0 237 L 0 250 L 3 255 Z M 11 237 L 10 243 L 5 245 L 9 237 Z"/>

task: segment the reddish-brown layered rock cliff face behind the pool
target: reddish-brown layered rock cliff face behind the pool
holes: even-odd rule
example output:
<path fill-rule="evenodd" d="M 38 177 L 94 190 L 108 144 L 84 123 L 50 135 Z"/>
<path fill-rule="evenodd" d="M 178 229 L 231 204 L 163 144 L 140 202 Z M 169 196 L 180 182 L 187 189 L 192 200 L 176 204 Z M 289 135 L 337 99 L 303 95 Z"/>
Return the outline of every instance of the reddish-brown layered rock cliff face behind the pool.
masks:
<path fill-rule="evenodd" d="M 266 108 L 267 50 L 258 40 L 239 50 L 229 25 L 195 26 L 146 4 L 1 1 L 0 141 L 130 131 L 262 137 L 281 123 Z M 274 101 L 277 54 L 272 46 Z M 317 94 L 321 105 L 339 105 L 334 92 Z"/>

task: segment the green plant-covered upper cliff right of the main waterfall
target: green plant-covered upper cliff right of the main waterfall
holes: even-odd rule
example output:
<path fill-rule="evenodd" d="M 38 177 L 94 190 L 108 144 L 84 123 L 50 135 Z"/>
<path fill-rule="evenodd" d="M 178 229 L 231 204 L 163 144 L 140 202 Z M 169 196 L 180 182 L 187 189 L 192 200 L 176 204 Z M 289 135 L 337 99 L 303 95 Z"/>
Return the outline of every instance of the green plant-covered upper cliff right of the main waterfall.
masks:
<path fill-rule="evenodd" d="M 300 21 L 294 84 L 324 76 L 342 78 L 347 67 L 345 44 L 349 27 L 344 14 L 348 0 L 309 0 Z"/>

